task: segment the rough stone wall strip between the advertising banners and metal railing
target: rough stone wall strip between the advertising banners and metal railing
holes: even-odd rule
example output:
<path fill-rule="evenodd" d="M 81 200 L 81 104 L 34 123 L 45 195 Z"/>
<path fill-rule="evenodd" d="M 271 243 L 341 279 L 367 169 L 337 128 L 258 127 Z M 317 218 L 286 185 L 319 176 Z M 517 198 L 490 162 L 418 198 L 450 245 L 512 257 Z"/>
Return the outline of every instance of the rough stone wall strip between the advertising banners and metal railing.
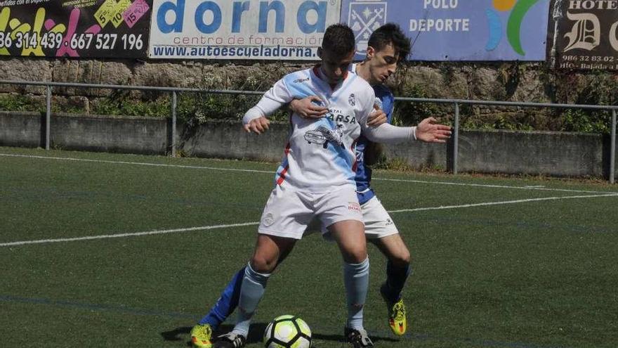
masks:
<path fill-rule="evenodd" d="M 74 60 L 0 58 L 6 80 L 132 84 L 263 91 L 285 73 L 313 63 L 183 60 Z M 598 73 L 553 72 L 544 63 L 422 63 L 403 65 L 389 83 L 397 96 L 420 86 L 428 98 L 573 103 L 577 89 Z M 608 75 L 616 80 L 615 75 Z M 569 85 L 563 84 L 568 79 Z M 41 93 L 41 88 L 1 86 L 1 92 Z M 107 90 L 64 89 L 66 96 L 104 96 Z"/>

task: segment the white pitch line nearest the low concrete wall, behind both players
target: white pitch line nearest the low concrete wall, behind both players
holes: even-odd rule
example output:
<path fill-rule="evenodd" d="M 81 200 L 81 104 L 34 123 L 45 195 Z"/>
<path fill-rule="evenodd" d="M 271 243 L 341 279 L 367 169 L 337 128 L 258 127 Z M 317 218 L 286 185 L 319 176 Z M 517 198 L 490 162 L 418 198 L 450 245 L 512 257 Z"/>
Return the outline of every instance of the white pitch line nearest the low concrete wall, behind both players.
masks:
<path fill-rule="evenodd" d="M 44 160 L 65 160 L 65 161 L 77 161 L 77 162 L 96 162 L 96 163 L 112 163 L 119 165 L 143 165 L 151 167 L 173 167 L 173 168 L 189 168 L 189 169 L 208 169 L 208 170 L 222 170 L 228 172 L 249 172 L 249 173 L 265 173 L 275 174 L 275 171 L 257 170 L 257 169 L 235 169 L 235 168 L 217 168 L 217 167 L 202 167 L 192 165 L 164 165 L 160 163 L 148 163 L 148 162 L 125 162 L 125 161 L 110 161 L 110 160 L 88 160 L 84 158 L 74 157 L 48 157 L 48 156 L 34 156 L 34 155 L 15 155 L 8 153 L 0 153 L 0 157 L 24 157 L 24 158 L 38 158 Z M 555 192 L 571 192 L 571 193 L 606 193 L 604 191 L 584 191 L 584 190 L 567 190 L 563 188 L 544 188 L 534 186 L 503 186 L 503 185 L 486 185 L 481 183 L 454 183 L 449 181 L 423 181 L 412 179 L 386 179 L 386 178 L 372 178 L 379 181 L 397 181 L 404 183 L 429 183 L 432 185 L 452 185 L 452 186 L 472 186 L 472 187 L 484 187 L 484 188 L 512 188 L 517 190 L 532 190 L 532 191 L 555 191 Z M 618 194 L 618 192 L 617 192 Z"/>

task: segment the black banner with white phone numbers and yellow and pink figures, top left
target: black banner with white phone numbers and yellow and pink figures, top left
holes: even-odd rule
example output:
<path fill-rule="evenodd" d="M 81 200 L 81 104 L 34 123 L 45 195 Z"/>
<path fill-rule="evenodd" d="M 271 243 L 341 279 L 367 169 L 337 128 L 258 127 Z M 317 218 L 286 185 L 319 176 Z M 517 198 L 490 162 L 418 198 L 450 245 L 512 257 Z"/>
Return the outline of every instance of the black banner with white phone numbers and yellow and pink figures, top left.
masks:
<path fill-rule="evenodd" d="M 146 58 L 152 0 L 1 0 L 0 55 Z"/>

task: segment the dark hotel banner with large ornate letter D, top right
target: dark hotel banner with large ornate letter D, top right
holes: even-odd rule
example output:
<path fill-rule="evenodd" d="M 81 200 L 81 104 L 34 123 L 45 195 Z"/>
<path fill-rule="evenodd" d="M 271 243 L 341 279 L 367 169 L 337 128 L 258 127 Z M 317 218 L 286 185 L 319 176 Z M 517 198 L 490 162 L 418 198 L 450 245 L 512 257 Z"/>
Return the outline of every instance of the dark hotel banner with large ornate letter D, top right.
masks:
<path fill-rule="evenodd" d="M 556 0 L 551 20 L 553 67 L 618 70 L 618 1 Z"/>

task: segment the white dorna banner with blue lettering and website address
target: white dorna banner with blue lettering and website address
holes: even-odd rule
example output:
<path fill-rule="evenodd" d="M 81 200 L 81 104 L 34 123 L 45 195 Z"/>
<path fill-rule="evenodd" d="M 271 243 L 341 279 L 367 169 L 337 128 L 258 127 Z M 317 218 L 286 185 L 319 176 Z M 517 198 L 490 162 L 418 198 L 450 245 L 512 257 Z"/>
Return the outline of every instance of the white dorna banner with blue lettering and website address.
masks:
<path fill-rule="evenodd" d="M 150 58 L 317 60 L 341 0 L 155 0 Z"/>

